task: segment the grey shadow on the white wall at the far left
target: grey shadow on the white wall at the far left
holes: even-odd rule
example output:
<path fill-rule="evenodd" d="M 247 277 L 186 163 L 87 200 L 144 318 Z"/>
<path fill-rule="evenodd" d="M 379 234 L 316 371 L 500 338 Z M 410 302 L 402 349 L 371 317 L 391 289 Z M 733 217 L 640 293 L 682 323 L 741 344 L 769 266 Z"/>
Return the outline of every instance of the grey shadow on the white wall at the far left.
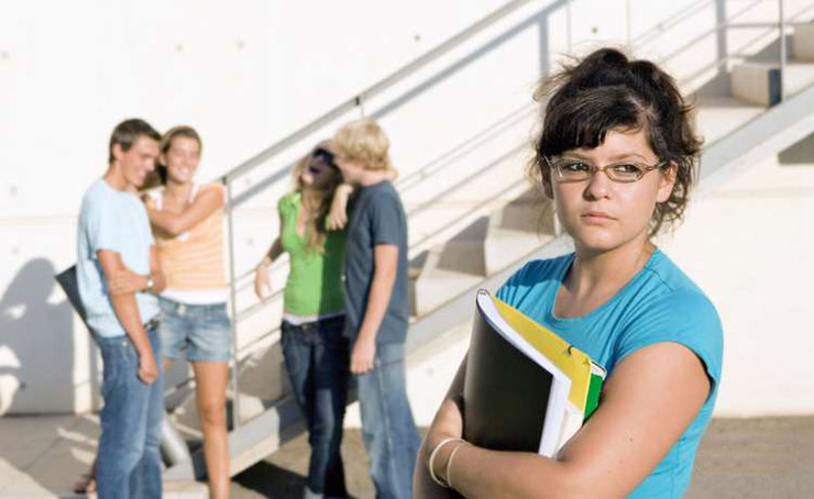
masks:
<path fill-rule="evenodd" d="M 54 265 L 23 265 L 0 299 L 0 414 L 73 412 L 74 312 Z"/>

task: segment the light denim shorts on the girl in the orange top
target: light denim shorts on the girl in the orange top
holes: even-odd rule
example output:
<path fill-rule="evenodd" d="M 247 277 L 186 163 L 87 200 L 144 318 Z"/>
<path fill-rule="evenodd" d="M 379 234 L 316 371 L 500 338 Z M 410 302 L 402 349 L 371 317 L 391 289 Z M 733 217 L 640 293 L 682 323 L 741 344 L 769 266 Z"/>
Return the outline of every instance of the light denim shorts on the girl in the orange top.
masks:
<path fill-rule="evenodd" d="M 162 352 L 167 358 L 189 362 L 227 362 L 232 325 L 226 303 L 187 304 L 158 298 Z"/>

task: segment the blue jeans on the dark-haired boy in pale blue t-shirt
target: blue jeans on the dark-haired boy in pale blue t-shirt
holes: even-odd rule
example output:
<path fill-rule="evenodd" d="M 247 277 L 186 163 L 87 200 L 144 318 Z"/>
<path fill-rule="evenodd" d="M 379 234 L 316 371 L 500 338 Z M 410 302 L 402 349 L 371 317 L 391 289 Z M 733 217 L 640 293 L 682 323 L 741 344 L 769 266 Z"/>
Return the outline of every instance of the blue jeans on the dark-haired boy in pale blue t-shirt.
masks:
<path fill-rule="evenodd" d="M 147 336 L 161 369 L 158 333 L 151 330 Z M 99 499 L 160 499 L 163 374 L 151 385 L 139 379 L 139 354 L 127 335 L 96 335 L 96 341 L 102 354 L 105 399 L 96 465 Z"/>

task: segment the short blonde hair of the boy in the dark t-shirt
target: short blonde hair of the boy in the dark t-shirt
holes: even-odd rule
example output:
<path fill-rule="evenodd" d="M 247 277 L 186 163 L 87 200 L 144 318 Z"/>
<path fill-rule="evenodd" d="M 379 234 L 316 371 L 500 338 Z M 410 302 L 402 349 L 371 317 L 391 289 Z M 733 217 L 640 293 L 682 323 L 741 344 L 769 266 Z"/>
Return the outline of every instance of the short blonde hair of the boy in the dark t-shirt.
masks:
<path fill-rule="evenodd" d="M 370 118 L 345 123 L 333 137 L 337 155 L 351 162 L 360 162 L 369 170 L 392 169 L 391 141 L 384 130 Z"/>

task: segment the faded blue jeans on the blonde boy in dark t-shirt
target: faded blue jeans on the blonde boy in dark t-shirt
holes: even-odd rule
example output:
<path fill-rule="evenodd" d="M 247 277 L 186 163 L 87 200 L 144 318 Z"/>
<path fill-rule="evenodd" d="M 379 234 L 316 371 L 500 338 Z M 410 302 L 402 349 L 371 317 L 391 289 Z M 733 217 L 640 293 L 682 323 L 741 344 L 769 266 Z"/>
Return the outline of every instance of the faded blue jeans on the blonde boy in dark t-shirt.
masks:
<path fill-rule="evenodd" d="M 376 344 L 373 370 L 355 378 L 376 498 L 409 498 L 421 439 L 407 400 L 404 343 Z"/>

